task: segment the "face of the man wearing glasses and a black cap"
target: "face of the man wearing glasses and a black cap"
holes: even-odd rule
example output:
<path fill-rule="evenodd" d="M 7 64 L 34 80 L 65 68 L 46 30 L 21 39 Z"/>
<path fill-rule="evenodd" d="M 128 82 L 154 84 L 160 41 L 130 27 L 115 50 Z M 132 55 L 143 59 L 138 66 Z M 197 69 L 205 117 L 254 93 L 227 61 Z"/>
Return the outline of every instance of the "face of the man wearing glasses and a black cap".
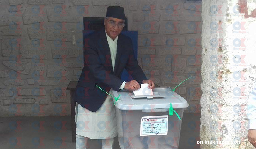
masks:
<path fill-rule="evenodd" d="M 112 23 L 111 23 L 112 22 Z M 115 25 L 113 25 L 115 23 Z M 124 27 L 121 27 L 118 24 L 124 23 L 124 20 L 108 17 L 104 20 L 105 30 L 107 35 L 113 40 L 121 33 Z"/>

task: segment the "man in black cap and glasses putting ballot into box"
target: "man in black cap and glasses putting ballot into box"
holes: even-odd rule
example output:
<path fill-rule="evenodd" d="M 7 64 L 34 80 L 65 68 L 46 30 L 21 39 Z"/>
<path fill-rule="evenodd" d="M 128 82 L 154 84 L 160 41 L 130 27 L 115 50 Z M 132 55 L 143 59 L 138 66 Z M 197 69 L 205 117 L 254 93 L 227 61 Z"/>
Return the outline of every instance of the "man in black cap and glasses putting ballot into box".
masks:
<path fill-rule="evenodd" d="M 97 86 L 109 94 L 120 89 L 134 91 L 142 83 L 148 83 L 150 89 L 155 86 L 135 60 L 131 39 L 120 34 L 124 21 L 124 8 L 109 6 L 105 28 L 88 35 L 86 40 L 85 63 L 76 86 L 76 148 L 86 148 L 88 138 L 102 139 L 102 148 L 113 148 L 113 138 L 117 136 L 115 107 L 111 96 Z M 125 68 L 134 80 L 120 79 Z"/>

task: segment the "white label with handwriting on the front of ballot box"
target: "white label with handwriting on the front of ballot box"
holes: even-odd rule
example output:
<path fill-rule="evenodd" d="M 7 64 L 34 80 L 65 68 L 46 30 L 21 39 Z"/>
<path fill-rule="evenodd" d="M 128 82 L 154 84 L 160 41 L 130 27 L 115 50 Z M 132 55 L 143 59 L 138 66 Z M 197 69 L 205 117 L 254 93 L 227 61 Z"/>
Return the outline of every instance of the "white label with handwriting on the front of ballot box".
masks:
<path fill-rule="evenodd" d="M 143 116 L 140 120 L 140 136 L 167 135 L 168 115 Z"/>

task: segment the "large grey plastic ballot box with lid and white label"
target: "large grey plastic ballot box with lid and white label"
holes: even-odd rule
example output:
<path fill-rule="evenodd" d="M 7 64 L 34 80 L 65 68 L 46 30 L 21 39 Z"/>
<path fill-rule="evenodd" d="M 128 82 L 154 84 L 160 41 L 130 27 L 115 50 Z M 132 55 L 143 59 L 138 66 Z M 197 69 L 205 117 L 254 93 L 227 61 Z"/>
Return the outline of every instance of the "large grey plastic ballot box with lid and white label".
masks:
<path fill-rule="evenodd" d="M 116 101 L 118 141 L 121 149 L 177 149 L 187 101 L 170 88 L 154 88 L 153 96 L 112 91 Z M 113 98 L 113 101 L 115 99 Z M 177 112 L 170 115 L 170 107 Z"/>

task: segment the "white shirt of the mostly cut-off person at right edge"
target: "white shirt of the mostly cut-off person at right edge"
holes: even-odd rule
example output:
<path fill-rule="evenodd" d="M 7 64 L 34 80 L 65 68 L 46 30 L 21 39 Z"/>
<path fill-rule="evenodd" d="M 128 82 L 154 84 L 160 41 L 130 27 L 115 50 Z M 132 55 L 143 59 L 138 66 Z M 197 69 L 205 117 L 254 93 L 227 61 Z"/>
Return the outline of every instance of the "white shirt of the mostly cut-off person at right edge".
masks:
<path fill-rule="evenodd" d="M 249 129 L 256 129 L 256 88 L 252 90 L 249 96 L 247 111 Z"/>

